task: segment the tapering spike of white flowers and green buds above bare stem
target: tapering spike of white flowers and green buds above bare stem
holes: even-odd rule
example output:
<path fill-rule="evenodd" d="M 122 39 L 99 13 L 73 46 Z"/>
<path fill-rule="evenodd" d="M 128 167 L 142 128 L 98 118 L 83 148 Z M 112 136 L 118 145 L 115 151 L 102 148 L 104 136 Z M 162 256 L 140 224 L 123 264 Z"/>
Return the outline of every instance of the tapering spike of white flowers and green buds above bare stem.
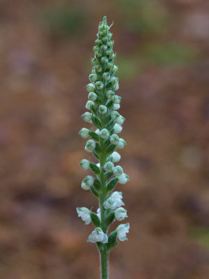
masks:
<path fill-rule="evenodd" d="M 120 108 L 121 96 L 115 94 L 118 90 L 118 77 L 115 73 L 118 67 L 114 64 L 116 54 L 112 47 L 112 34 L 109 32 L 106 17 L 100 22 L 98 38 L 95 40 L 92 73 L 89 75 L 90 83 L 86 86 L 88 101 L 86 110 L 82 115 L 84 121 L 93 123 L 92 128 L 82 128 L 79 134 L 89 139 L 85 150 L 92 153 L 99 163 L 93 163 L 83 159 L 80 166 L 83 169 L 91 169 L 93 176 L 87 175 L 82 181 L 82 189 L 91 190 L 100 201 L 97 213 L 86 207 L 77 208 L 78 216 L 86 225 L 93 223 L 95 229 L 88 236 L 88 241 L 98 244 L 106 250 L 111 250 L 120 241 L 125 241 L 129 232 L 129 224 L 118 225 L 109 236 L 107 231 L 114 220 L 127 218 L 121 192 L 114 191 L 117 183 L 125 184 L 129 176 L 123 172 L 120 165 L 115 165 L 121 160 L 121 155 L 115 149 L 123 149 L 126 142 L 118 134 L 123 130 L 125 118 L 117 111 Z M 104 249 L 103 249 L 104 250 Z"/>

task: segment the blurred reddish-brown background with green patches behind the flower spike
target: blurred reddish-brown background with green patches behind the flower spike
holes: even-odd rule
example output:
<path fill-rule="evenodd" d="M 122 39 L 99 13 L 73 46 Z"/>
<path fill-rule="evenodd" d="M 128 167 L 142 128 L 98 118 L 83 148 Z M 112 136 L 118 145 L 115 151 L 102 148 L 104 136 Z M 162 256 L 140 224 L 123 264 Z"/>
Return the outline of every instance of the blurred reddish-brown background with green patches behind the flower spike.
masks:
<path fill-rule="evenodd" d="M 0 278 L 98 279 L 75 208 L 98 23 L 114 21 L 127 121 L 128 241 L 111 279 L 209 278 L 209 5 L 203 0 L 1 0 Z M 89 127 L 88 124 L 86 127 Z M 121 135 L 122 136 L 122 135 Z M 126 221 L 126 220 L 125 220 Z M 118 223 L 114 223 L 113 228 Z"/>

